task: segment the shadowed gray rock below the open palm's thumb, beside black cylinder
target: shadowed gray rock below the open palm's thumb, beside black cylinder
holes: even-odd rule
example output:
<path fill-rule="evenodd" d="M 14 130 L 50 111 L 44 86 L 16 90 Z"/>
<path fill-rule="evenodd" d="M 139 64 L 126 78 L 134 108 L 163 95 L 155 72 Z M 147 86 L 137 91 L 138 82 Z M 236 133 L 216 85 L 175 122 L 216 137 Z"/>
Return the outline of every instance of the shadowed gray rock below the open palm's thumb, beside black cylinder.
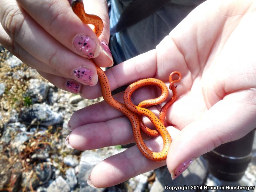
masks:
<path fill-rule="evenodd" d="M 195 159 L 194 162 L 191 165 L 189 165 L 187 170 L 185 170 L 175 180 L 171 179 L 171 174 L 166 166 L 156 169 L 155 173 L 156 181 L 150 188 L 150 192 L 165 191 L 165 185 L 168 185 L 170 187 L 191 185 L 200 186 L 203 184 L 207 173 L 206 160 L 203 157 Z M 178 191 L 181 191 L 181 189 Z M 185 191 L 196 190 L 191 190 L 191 188 L 189 188 L 189 190 Z"/>

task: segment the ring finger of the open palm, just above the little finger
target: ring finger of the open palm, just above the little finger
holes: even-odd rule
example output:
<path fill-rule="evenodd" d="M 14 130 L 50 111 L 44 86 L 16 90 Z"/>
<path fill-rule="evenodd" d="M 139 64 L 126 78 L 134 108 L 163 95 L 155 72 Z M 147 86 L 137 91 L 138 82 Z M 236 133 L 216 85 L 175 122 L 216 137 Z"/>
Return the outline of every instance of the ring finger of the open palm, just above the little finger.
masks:
<path fill-rule="evenodd" d="M 77 127 L 69 135 L 70 145 L 82 151 L 132 142 L 134 139 L 131 123 L 126 117 L 86 124 Z"/>

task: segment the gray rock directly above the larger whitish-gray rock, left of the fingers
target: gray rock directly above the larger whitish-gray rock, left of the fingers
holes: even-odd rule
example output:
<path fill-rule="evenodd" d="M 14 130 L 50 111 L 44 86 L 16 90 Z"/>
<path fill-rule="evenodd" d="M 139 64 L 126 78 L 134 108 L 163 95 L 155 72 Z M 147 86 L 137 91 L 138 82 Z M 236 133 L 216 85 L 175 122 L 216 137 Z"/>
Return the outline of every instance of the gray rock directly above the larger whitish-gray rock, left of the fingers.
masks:
<path fill-rule="evenodd" d="M 29 81 L 28 96 L 30 96 L 33 103 L 45 100 L 49 85 L 39 79 L 30 79 Z"/>

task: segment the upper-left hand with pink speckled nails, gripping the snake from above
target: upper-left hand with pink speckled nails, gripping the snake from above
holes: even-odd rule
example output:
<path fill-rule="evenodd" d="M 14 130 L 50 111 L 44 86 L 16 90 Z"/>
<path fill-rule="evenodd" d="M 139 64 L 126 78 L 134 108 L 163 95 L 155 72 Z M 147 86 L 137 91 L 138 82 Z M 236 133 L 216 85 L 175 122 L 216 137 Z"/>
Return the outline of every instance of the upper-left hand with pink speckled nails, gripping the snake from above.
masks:
<path fill-rule="evenodd" d="M 108 5 L 105 0 L 84 0 L 85 11 L 103 20 L 104 29 L 98 39 L 72 11 L 70 3 L 2 0 L 0 43 L 55 86 L 79 93 L 84 85 L 93 86 L 98 81 L 94 64 L 85 58 L 92 58 L 100 67 L 113 65 L 107 45 Z M 78 71 L 87 76 L 81 77 Z"/>

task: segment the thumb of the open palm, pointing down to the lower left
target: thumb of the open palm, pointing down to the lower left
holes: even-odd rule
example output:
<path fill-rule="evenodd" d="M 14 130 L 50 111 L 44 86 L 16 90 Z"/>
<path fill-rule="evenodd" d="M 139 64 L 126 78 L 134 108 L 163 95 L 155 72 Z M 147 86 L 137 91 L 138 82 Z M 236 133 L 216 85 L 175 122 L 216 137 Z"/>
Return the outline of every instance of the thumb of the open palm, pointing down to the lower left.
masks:
<path fill-rule="evenodd" d="M 255 92 L 231 93 L 207 110 L 199 120 L 186 126 L 174 138 L 167 156 L 172 179 L 193 159 L 223 143 L 242 138 L 256 127 Z M 253 98 L 254 97 L 254 98 Z"/>

